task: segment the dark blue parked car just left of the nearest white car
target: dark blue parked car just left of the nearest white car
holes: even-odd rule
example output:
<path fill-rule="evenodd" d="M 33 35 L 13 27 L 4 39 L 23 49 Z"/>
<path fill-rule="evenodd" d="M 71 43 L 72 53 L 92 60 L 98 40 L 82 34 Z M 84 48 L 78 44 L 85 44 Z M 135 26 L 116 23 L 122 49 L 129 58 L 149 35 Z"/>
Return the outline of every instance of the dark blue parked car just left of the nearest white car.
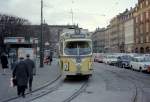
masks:
<path fill-rule="evenodd" d="M 132 57 L 129 55 L 119 56 L 117 58 L 117 66 L 121 68 L 130 68 Z"/>

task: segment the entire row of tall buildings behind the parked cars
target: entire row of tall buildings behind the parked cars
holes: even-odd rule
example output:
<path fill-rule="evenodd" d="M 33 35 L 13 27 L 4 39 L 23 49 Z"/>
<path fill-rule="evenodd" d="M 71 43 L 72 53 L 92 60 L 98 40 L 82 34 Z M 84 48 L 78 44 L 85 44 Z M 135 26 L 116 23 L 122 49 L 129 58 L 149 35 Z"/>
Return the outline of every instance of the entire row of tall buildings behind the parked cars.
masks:
<path fill-rule="evenodd" d="M 105 52 L 150 53 L 150 0 L 138 0 L 134 8 L 112 18 L 102 33 Z M 101 34 L 95 35 L 96 49 L 101 45 Z"/>

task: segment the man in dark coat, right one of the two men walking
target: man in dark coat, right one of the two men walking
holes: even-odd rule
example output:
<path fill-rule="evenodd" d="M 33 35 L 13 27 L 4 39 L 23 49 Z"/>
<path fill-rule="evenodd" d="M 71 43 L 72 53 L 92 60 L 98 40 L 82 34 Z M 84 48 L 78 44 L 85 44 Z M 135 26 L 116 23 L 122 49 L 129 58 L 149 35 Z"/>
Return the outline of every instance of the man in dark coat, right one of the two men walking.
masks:
<path fill-rule="evenodd" d="M 29 91 L 32 91 L 32 81 L 33 81 L 33 75 L 35 74 L 35 64 L 34 61 L 30 59 L 30 55 L 27 54 L 26 55 L 26 60 L 25 63 L 28 67 L 28 71 L 29 71 Z"/>

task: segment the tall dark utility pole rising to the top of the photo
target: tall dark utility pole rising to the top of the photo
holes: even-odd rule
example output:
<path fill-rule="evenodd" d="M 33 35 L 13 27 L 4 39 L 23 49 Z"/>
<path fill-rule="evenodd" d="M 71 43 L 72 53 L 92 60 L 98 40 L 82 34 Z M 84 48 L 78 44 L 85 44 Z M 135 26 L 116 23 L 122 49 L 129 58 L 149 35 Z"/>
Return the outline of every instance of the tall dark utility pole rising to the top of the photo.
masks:
<path fill-rule="evenodd" d="M 43 0 L 41 0 L 41 34 L 40 34 L 40 67 L 43 68 L 44 50 L 43 50 Z"/>

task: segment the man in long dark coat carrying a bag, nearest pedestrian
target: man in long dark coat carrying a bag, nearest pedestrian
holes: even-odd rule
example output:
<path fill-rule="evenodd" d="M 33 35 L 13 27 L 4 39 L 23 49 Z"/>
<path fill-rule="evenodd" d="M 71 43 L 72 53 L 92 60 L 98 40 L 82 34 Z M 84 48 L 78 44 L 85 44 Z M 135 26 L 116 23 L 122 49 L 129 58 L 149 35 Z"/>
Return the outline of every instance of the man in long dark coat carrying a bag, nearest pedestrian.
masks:
<path fill-rule="evenodd" d="M 23 57 L 20 57 L 18 63 L 16 63 L 13 69 L 12 77 L 15 78 L 17 82 L 18 96 L 25 98 L 25 90 L 28 84 L 29 72 Z"/>

